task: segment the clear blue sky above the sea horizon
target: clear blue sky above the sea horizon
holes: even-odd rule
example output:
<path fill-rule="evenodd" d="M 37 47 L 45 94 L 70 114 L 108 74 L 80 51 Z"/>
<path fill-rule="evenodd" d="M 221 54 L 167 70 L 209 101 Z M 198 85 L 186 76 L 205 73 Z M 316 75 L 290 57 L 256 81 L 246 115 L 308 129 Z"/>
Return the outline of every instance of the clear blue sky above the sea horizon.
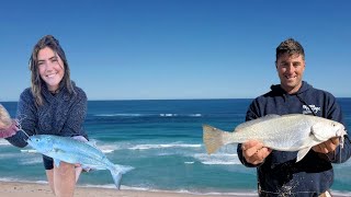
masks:
<path fill-rule="evenodd" d="M 52 34 L 89 100 L 256 97 L 279 83 L 275 48 L 301 42 L 304 79 L 350 97 L 351 1 L 12 0 L 0 7 L 0 102 L 30 86 Z"/>

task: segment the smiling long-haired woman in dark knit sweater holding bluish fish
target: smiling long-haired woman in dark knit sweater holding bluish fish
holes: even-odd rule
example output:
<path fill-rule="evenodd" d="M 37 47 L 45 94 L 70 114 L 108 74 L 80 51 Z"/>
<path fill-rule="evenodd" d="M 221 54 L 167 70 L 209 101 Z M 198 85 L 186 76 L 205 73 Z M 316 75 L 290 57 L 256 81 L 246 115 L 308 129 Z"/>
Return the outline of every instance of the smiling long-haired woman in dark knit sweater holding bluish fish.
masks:
<path fill-rule="evenodd" d="M 18 105 L 21 128 L 32 135 L 56 135 L 87 141 L 83 121 L 87 95 L 70 80 L 69 66 L 59 42 L 46 35 L 34 46 L 30 59 L 32 85 L 25 89 Z M 13 146 L 27 143 L 24 132 L 5 138 Z M 57 196 L 73 196 L 81 167 L 43 155 L 48 183 Z"/>

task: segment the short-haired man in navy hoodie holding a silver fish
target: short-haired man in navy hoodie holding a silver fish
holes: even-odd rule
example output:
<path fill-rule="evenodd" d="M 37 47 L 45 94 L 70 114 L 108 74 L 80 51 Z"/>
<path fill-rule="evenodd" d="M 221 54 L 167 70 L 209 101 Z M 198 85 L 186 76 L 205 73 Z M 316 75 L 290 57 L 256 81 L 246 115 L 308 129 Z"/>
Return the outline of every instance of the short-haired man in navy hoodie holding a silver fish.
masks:
<path fill-rule="evenodd" d="M 330 93 L 314 89 L 303 81 L 306 68 L 303 46 L 288 38 L 276 48 L 275 67 L 281 83 L 257 97 L 247 112 L 246 120 L 268 114 L 307 114 L 333 119 L 344 126 L 342 113 Z M 259 141 L 238 144 L 238 157 L 246 166 L 257 167 L 260 196 L 330 196 L 333 182 L 331 163 L 346 162 L 351 154 L 348 136 L 340 149 L 338 138 L 313 147 L 296 163 L 296 152 L 270 150 Z"/>

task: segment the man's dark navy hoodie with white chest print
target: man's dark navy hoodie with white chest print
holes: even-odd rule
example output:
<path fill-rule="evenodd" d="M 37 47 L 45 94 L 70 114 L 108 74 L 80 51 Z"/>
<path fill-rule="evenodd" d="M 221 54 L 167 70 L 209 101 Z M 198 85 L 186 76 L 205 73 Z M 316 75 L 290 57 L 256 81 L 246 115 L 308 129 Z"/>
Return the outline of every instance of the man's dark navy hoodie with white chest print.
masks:
<path fill-rule="evenodd" d="M 333 95 L 314 89 L 303 82 L 297 93 L 287 94 L 280 85 L 257 97 L 247 112 L 246 120 L 268 114 L 307 114 L 343 121 L 341 108 Z M 349 136 L 349 135 L 348 135 Z M 344 138 L 344 147 L 337 148 L 335 154 L 316 153 L 313 150 L 299 162 L 297 152 L 273 150 L 260 165 L 247 163 L 238 144 L 238 157 L 246 166 L 257 167 L 260 196 L 318 196 L 330 189 L 333 182 L 331 163 L 346 162 L 351 154 L 351 143 Z M 329 157 L 329 158 L 328 158 Z"/>

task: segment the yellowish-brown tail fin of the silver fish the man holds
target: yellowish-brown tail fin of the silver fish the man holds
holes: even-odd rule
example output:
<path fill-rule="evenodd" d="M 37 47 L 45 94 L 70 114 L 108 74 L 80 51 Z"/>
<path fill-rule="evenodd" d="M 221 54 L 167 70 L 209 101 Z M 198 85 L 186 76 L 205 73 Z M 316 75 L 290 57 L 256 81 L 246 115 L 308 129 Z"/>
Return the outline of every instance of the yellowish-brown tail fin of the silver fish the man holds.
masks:
<path fill-rule="evenodd" d="M 203 125 L 203 140 L 208 154 L 216 152 L 222 146 L 229 143 L 230 132 L 210 125 Z"/>

